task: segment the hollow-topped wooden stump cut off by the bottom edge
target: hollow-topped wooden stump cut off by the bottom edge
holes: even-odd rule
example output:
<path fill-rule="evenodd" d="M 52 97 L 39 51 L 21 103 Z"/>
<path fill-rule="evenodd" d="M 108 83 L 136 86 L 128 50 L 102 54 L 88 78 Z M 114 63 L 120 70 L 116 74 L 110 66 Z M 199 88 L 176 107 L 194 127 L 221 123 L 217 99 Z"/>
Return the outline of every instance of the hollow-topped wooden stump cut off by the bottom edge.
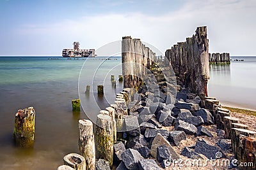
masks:
<path fill-rule="evenodd" d="M 63 157 L 64 164 L 76 170 L 86 170 L 85 159 L 77 153 L 69 153 Z"/>

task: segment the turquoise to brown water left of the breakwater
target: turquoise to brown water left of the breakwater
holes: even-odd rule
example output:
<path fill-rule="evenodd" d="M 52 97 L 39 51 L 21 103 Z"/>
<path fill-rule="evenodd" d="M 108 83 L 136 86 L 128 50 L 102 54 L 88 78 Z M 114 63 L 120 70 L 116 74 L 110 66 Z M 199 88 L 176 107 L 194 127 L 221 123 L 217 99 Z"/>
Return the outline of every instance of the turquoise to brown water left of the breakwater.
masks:
<path fill-rule="evenodd" d="M 3 162 L 0 169 L 57 169 L 63 164 L 64 155 L 77 153 L 78 120 L 87 117 L 82 110 L 72 112 L 71 100 L 80 96 L 87 103 L 83 106 L 86 111 L 94 115 L 99 113 L 100 108 L 112 103 L 114 97 L 107 101 L 97 96 L 95 85 L 97 88 L 97 83 L 104 83 L 104 79 L 110 81 L 106 73 L 121 63 L 120 57 L 115 60 L 88 58 L 86 64 L 84 61 L 62 57 L 0 57 L 0 160 Z M 81 71 L 83 66 L 88 67 Z M 121 71 L 114 69 L 111 74 L 118 75 Z M 94 74 L 95 80 L 86 79 Z M 116 83 L 113 90 L 109 81 L 104 83 L 107 95 L 122 89 L 122 83 Z M 83 89 L 88 84 L 93 86 L 86 96 Z M 29 106 L 36 111 L 35 145 L 31 150 L 24 150 L 14 145 L 12 132 L 15 113 Z"/>

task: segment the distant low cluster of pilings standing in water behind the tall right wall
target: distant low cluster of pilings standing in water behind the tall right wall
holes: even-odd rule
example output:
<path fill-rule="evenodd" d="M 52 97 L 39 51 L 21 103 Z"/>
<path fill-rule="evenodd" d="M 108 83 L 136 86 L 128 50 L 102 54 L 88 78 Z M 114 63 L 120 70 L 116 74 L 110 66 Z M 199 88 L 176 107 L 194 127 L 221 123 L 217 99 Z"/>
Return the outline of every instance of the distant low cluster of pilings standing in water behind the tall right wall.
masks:
<path fill-rule="evenodd" d="M 229 53 L 209 53 L 210 64 L 230 64 Z"/>

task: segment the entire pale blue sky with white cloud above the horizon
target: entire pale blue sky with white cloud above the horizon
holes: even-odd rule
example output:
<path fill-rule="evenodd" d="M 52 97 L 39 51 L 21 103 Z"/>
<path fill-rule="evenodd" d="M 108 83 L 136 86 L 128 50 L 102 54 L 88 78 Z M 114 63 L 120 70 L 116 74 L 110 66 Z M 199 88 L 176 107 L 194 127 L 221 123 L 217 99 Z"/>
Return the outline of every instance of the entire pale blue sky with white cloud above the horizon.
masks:
<path fill-rule="evenodd" d="M 206 25 L 209 52 L 256 55 L 254 0 L 0 0 L 0 56 L 61 55 L 122 36 L 161 52 Z"/>

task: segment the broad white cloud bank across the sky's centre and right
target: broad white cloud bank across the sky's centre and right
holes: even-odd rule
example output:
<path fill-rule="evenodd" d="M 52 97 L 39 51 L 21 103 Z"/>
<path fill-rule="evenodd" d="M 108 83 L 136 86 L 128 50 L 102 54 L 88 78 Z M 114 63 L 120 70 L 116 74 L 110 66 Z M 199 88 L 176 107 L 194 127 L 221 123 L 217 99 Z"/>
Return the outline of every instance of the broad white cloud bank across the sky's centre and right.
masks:
<path fill-rule="evenodd" d="M 62 48 L 72 47 L 75 40 L 84 48 L 99 48 L 127 35 L 140 38 L 164 53 L 177 41 L 186 41 L 197 26 L 207 25 L 210 52 L 255 55 L 255 7 L 255 1 L 198 0 L 157 17 L 143 13 L 107 13 L 52 25 L 27 25 L 16 33 L 41 38 L 42 43 L 49 35 L 51 43 L 45 44 L 45 48 L 52 48 L 57 55 Z"/>

